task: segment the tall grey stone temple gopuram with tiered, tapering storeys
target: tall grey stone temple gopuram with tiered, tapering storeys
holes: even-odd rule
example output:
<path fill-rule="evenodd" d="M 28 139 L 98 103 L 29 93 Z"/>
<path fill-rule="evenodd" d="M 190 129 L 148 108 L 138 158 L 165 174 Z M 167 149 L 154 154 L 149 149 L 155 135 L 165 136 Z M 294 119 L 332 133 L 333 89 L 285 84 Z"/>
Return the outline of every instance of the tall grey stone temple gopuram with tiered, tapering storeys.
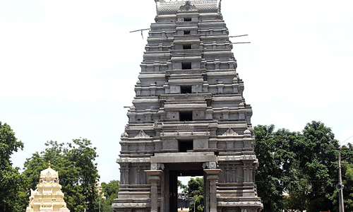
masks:
<path fill-rule="evenodd" d="M 177 212 L 177 177 L 203 176 L 206 212 L 261 211 L 252 110 L 220 0 L 155 1 L 112 207 Z"/>

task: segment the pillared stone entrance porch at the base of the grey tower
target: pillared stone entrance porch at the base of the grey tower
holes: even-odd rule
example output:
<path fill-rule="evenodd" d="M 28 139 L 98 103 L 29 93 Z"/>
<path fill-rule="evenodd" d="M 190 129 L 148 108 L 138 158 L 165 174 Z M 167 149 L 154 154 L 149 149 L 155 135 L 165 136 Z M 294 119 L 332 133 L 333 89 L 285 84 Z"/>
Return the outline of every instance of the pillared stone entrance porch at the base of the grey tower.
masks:
<path fill-rule="evenodd" d="M 151 157 L 151 211 L 177 212 L 178 176 L 203 176 L 204 211 L 217 208 L 216 182 L 221 170 L 217 169 L 214 153 L 160 153 Z M 157 187 L 160 184 L 160 188 Z M 157 194 L 160 191 L 160 200 Z M 213 209 L 213 210 L 210 210 Z"/>

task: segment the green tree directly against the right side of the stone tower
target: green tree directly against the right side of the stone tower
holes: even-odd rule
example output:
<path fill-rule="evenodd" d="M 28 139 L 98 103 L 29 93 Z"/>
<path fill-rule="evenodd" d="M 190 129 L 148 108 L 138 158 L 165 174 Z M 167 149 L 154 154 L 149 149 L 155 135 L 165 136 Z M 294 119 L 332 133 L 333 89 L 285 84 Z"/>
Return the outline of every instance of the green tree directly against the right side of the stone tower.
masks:
<path fill-rule="evenodd" d="M 275 126 L 254 127 L 255 152 L 259 161 L 256 172 L 258 196 L 263 201 L 263 211 L 282 211 L 285 208 L 283 194 L 292 186 L 297 176 L 296 154 L 291 150 L 301 141 L 301 134 L 287 129 L 275 131 Z"/>

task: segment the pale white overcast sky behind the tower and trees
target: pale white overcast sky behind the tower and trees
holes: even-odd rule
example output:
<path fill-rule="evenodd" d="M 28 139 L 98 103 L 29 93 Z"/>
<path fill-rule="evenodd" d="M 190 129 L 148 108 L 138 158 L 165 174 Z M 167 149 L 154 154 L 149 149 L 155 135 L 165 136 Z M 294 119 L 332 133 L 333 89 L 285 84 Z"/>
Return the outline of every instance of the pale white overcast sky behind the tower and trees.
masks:
<path fill-rule="evenodd" d="M 222 1 L 251 122 L 301 131 L 312 120 L 353 143 L 353 1 Z M 119 179 L 153 0 L 0 0 L 0 122 L 25 143 L 23 167 L 46 141 L 85 138 L 102 182 Z M 348 140 L 347 140 L 348 139 Z M 346 141 L 347 140 L 347 141 Z M 54 162 L 52 162 L 54 163 Z"/>

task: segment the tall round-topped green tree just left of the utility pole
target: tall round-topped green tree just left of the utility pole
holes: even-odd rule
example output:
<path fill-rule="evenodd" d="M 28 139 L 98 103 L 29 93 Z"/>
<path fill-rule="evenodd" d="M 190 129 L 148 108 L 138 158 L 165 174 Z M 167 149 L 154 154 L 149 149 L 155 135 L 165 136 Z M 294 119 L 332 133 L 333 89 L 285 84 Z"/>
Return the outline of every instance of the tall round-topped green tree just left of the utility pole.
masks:
<path fill-rule="evenodd" d="M 333 211 L 331 200 L 337 184 L 337 153 L 330 148 L 338 148 L 339 143 L 332 130 L 322 122 L 306 124 L 302 133 L 304 141 L 296 149 L 301 170 L 308 175 L 311 184 L 307 211 Z"/>

